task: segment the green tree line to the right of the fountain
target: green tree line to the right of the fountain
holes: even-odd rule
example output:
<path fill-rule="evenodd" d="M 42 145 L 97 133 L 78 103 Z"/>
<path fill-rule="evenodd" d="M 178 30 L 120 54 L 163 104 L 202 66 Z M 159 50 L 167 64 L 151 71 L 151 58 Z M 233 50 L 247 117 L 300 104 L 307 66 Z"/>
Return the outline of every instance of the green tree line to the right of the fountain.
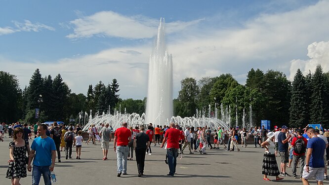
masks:
<path fill-rule="evenodd" d="M 321 123 L 329 126 L 329 73 L 318 65 L 314 74 L 304 76 L 298 69 L 290 82 L 286 74 L 268 70 L 266 73 L 251 69 L 245 85 L 239 84 L 232 74 L 203 77 L 198 82 L 187 77 L 181 81 L 178 98 L 174 99 L 175 115 L 194 116 L 196 110 L 214 111 L 217 103 L 223 109 L 231 108 L 231 122 L 242 126 L 243 110 L 245 120 L 260 125 L 262 119 L 274 125 L 305 127 L 306 124 Z M 251 106 L 252 113 L 249 112 Z M 207 116 L 207 114 L 206 114 Z M 218 118 L 221 114 L 218 113 Z"/>

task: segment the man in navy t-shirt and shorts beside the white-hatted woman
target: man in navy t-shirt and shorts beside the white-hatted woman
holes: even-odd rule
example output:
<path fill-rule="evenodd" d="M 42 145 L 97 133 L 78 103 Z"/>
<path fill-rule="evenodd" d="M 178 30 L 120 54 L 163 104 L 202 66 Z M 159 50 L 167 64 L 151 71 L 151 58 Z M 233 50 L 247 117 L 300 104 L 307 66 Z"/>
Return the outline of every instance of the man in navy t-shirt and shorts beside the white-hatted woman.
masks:
<path fill-rule="evenodd" d="M 280 169 L 282 176 L 290 177 L 290 175 L 286 172 L 287 162 L 289 161 L 289 153 L 288 153 L 288 140 L 290 139 L 291 135 L 286 136 L 288 132 L 288 127 L 283 125 L 281 127 L 281 132 L 278 134 L 278 151 L 281 157 L 281 164 Z"/>

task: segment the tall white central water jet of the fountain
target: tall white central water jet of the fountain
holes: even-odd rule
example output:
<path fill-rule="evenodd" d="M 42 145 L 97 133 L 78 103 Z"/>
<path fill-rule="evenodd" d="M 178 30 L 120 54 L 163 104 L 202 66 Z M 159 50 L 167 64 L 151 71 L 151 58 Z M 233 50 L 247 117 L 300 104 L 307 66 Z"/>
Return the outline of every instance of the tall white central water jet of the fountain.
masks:
<path fill-rule="evenodd" d="M 164 18 L 161 18 L 149 61 L 146 122 L 164 124 L 172 114 L 172 56 L 166 51 Z"/>

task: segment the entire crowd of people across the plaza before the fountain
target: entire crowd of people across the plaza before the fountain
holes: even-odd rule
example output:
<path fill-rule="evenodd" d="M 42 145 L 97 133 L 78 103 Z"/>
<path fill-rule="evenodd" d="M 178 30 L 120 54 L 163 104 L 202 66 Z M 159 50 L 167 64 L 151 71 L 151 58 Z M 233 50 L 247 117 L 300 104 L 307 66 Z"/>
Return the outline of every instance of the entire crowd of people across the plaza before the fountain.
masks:
<path fill-rule="evenodd" d="M 155 128 L 152 123 L 148 125 L 130 126 L 123 123 L 121 128 L 113 130 L 109 123 L 100 124 L 97 127 L 92 124 L 87 129 L 88 142 L 97 145 L 100 143 L 103 151 L 103 160 L 107 160 L 112 133 L 114 132 L 114 151 L 117 153 L 118 177 L 127 174 L 127 160 L 135 160 L 137 163 L 138 177 L 144 175 L 145 156 L 152 155 L 151 144 L 160 145 L 166 149 L 164 162 L 168 164 L 169 173 L 173 177 L 176 171 L 176 161 L 179 154 L 183 154 L 186 147 L 189 154 L 200 152 L 207 154 L 206 148 L 218 149 L 220 147 L 228 151 L 240 151 L 247 147 L 249 137 L 254 139 L 254 148 L 265 148 L 262 163 L 263 180 L 271 181 L 268 176 L 275 176 L 277 181 L 283 177 L 293 176 L 302 179 L 307 185 L 308 180 L 315 178 L 318 184 L 327 179 L 327 154 L 329 152 L 329 131 L 323 133 L 314 128 L 281 128 L 275 126 L 273 131 L 262 127 L 254 127 L 247 130 L 239 127 L 231 127 L 230 130 L 218 127 L 218 130 L 210 130 L 209 127 L 180 127 L 178 124 Z M 35 125 L 19 122 L 6 126 L 0 124 L 0 137 L 8 133 L 13 141 L 9 144 L 9 160 L 6 178 L 11 179 L 12 185 L 19 185 L 20 178 L 26 177 L 26 169 L 32 170 L 32 183 L 38 185 L 41 175 L 45 185 L 50 185 L 50 172 L 53 170 L 57 156 L 57 162 L 61 162 L 61 151 L 65 150 L 65 158 L 72 159 L 72 148 L 76 147 L 76 159 L 81 159 L 81 149 L 84 142 L 82 127 L 80 125 L 58 125 L 57 122 L 46 125 L 37 123 Z M 29 139 L 34 140 L 30 145 Z M 213 137 L 213 142 L 210 142 Z M 227 140 L 225 140 L 225 138 Z M 227 141 L 225 144 L 224 142 Z M 212 146 L 213 145 L 213 146 Z M 56 152 L 57 151 L 57 152 Z M 28 153 L 28 156 L 26 156 Z M 57 153 L 57 155 L 56 155 Z M 277 163 L 280 157 L 280 165 Z M 329 157 L 328 157 L 329 159 Z M 33 162 L 32 162 L 33 161 Z M 299 174 L 297 175 L 297 166 Z M 280 166 L 280 168 L 279 168 Z M 291 168 L 292 175 L 287 169 Z M 281 176 L 281 177 L 280 177 Z"/>

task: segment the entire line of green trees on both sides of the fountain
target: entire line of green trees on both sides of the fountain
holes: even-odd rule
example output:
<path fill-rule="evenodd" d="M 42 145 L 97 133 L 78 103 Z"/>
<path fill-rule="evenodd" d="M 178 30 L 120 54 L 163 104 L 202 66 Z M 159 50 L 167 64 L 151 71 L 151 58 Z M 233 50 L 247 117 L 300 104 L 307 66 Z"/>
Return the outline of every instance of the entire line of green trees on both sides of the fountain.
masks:
<path fill-rule="evenodd" d="M 41 122 L 52 120 L 76 121 L 82 112 L 89 110 L 98 114 L 145 112 L 146 98 L 143 100 L 122 100 L 118 92 L 116 79 L 105 85 L 99 81 L 94 87 L 88 86 L 86 95 L 75 94 L 58 74 L 54 79 L 50 75 L 42 77 L 37 69 L 30 79 L 29 86 L 23 90 L 19 87 L 15 75 L 0 72 L 0 121 L 36 122 L 35 109 L 41 108 Z M 39 103 L 42 95 L 42 103 Z M 196 110 L 215 110 L 231 108 L 230 121 L 242 118 L 252 120 L 253 125 L 260 125 L 260 120 L 271 120 L 271 125 L 289 125 L 304 127 L 308 123 L 321 123 L 329 126 L 329 73 L 324 73 L 320 65 L 315 72 L 304 76 L 298 69 L 290 82 L 286 74 L 268 70 L 266 73 L 251 69 L 247 74 L 246 84 L 239 84 L 232 74 L 216 77 L 203 77 L 196 80 L 187 77 L 181 80 L 181 90 L 173 100 L 174 115 L 198 116 Z M 222 106 L 220 106 L 222 105 Z M 250 114 L 250 107 L 252 114 Z M 245 110 L 245 116 L 243 112 Z M 236 111 L 238 120 L 236 120 Z M 207 113 L 206 113 L 207 116 Z M 218 113 L 218 118 L 221 114 Z"/>

